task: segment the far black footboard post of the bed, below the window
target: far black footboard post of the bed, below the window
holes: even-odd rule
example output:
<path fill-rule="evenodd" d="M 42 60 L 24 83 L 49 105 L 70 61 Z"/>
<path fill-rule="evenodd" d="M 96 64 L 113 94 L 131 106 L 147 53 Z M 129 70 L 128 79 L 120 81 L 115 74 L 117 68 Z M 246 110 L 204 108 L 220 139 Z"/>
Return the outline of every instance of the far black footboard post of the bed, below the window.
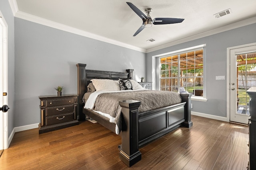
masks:
<path fill-rule="evenodd" d="M 182 122 L 182 126 L 192 127 L 193 122 L 191 121 L 191 96 L 192 93 L 180 93 L 182 102 L 185 104 L 185 121 Z"/>

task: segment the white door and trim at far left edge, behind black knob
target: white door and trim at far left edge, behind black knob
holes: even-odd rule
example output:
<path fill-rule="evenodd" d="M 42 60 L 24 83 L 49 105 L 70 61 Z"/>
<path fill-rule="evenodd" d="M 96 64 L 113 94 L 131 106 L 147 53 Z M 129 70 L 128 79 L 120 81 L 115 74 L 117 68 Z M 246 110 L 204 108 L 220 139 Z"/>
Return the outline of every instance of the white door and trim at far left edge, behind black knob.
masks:
<path fill-rule="evenodd" d="M 7 23 L 0 11 L 0 107 L 8 104 L 8 54 L 7 54 Z M 8 116 L 7 112 L 0 111 L 0 150 L 8 148 Z"/>

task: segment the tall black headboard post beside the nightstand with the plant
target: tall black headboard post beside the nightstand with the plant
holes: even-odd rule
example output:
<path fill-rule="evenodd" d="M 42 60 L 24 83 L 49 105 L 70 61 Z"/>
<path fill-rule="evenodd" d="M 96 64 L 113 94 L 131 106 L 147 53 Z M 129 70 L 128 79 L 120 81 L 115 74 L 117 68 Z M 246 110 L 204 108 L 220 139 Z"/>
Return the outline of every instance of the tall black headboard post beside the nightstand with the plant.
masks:
<path fill-rule="evenodd" d="M 78 93 L 78 109 L 77 109 L 77 119 L 84 120 L 85 115 L 82 114 L 82 107 L 83 107 L 83 95 L 86 92 L 86 64 L 76 64 L 77 66 L 77 93 Z"/>

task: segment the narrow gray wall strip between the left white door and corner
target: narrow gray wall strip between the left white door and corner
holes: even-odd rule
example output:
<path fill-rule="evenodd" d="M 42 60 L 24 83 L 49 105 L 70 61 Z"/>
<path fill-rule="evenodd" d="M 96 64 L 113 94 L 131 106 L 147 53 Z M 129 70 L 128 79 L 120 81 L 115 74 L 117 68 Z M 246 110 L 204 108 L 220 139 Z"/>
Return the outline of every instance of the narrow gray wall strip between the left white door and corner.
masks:
<path fill-rule="evenodd" d="M 8 136 L 14 129 L 14 16 L 8 0 L 0 0 L 0 11 L 8 25 Z M 1 106 L 2 107 L 2 106 Z"/>

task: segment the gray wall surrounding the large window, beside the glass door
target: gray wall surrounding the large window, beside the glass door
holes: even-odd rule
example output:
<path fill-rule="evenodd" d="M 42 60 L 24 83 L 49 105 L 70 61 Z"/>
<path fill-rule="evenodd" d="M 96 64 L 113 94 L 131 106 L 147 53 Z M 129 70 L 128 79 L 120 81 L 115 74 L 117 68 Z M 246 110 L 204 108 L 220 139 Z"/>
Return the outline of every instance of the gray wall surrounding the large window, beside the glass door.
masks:
<path fill-rule="evenodd" d="M 204 59 L 206 64 L 206 95 L 207 102 L 192 101 L 192 111 L 216 115 L 227 116 L 227 91 L 226 80 L 215 80 L 215 76 L 227 76 L 227 48 L 238 45 L 256 42 L 256 24 L 239 27 L 222 33 L 214 34 L 208 37 L 188 41 L 179 45 L 174 45 L 158 51 L 146 54 L 146 72 L 147 79 L 152 80 L 152 56 L 194 47 L 196 45 L 206 44 Z"/>

